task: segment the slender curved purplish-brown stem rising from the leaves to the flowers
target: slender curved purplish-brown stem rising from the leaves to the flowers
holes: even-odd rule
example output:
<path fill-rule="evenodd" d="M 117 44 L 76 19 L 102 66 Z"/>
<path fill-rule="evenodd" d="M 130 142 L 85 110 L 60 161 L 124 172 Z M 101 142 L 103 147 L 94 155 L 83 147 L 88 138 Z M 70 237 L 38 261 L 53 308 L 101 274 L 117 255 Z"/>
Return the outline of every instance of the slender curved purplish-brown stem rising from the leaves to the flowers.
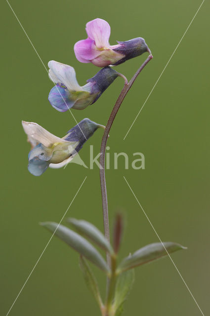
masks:
<path fill-rule="evenodd" d="M 120 109 L 120 106 L 126 97 L 127 92 L 131 88 L 133 82 L 138 77 L 142 69 L 147 65 L 147 63 L 153 58 L 152 55 L 149 55 L 145 62 L 141 65 L 141 67 L 137 70 L 135 75 L 130 79 L 130 81 L 127 83 L 125 80 L 125 85 L 123 90 L 121 91 L 115 106 L 112 110 L 112 113 L 108 119 L 108 122 L 106 124 L 106 128 L 103 134 L 103 138 L 101 141 L 101 150 L 100 150 L 100 182 L 101 182 L 101 195 L 102 195 L 102 206 L 103 206 L 103 221 L 104 221 L 104 234 L 107 240 L 110 241 L 110 233 L 109 233 L 109 214 L 108 214 L 108 202 L 107 202 L 107 190 L 106 190 L 106 178 L 105 178 L 105 152 L 106 152 L 106 143 L 107 139 L 109 137 L 109 131 L 111 129 L 111 126 L 113 124 L 113 121 L 118 113 L 118 110 Z M 124 76 L 123 76 L 124 77 Z M 107 263 L 110 266 L 110 256 L 107 254 Z"/>

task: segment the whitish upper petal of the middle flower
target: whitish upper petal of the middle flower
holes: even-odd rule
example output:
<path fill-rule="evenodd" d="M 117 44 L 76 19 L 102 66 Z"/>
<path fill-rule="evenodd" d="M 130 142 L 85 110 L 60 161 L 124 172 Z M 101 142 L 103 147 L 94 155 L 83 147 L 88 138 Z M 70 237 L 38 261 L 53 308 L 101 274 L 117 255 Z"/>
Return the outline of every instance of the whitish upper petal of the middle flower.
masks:
<path fill-rule="evenodd" d="M 50 68 L 49 75 L 51 76 L 52 81 L 55 80 L 55 83 L 59 82 L 65 84 L 69 91 L 81 90 L 81 87 L 77 82 L 76 73 L 73 67 L 58 63 L 54 60 L 48 62 L 48 67 Z"/>

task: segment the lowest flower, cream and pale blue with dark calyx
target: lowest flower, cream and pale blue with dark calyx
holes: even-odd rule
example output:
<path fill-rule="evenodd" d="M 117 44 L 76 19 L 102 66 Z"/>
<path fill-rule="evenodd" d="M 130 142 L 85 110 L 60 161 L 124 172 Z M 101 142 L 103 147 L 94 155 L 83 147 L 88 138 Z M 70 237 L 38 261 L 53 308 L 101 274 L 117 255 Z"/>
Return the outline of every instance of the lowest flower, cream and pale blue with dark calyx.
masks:
<path fill-rule="evenodd" d="M 60 168 L 71 162 L 96 129 L 105 128 L 84 118 L 66 136 L 59 138 L 37 123 L 22 121 L 22 125 L 32 147 L 28 170 L 35 176 L 40 176 L 48 167 Z"/>

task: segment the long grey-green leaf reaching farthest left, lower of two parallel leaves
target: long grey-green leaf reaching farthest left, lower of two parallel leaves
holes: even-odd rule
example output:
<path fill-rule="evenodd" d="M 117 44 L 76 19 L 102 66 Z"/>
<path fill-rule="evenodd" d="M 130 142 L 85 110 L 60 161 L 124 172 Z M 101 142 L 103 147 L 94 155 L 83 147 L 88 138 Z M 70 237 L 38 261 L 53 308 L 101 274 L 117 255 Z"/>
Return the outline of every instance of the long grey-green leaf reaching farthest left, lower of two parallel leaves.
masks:
<path fill-rule="evenodd" d="M 99 269 L 109 272 L 109 268 L 100 253 L 84 237 L 69 228 L 54 222 L 41 223 L 51 233 L 65 241 L 70 247 L 78 251 L 85 258 L 94 263 Z"/>

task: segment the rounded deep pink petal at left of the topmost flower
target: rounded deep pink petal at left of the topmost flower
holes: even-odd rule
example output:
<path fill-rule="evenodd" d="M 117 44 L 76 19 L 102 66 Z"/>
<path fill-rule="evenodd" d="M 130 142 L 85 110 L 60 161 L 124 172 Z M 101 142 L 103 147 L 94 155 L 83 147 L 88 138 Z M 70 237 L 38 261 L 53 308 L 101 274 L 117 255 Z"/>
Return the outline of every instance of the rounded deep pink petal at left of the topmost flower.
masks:
<path fill-rule="evenodd" d="M 96 49 L 94 41 L 90 39 L 76 42 L 74 51 L 76 58 L 82 63 L 89 63 L 101 53 L 101 51 Z"/>

